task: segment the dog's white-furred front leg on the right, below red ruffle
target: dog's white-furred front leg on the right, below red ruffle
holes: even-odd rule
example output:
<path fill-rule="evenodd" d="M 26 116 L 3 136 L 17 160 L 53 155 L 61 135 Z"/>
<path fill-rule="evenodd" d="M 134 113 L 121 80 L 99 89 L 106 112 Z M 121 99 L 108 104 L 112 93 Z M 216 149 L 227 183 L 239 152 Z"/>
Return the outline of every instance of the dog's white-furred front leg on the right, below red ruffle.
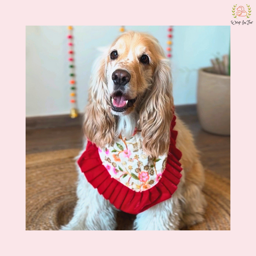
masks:
<path fill-rule="evenodd" d="M 184 178 L 173 196 L 146 211 L 139 213 L 134 221 L 135 230 L 178 230 L 180 223 L 181 194 Z"/>

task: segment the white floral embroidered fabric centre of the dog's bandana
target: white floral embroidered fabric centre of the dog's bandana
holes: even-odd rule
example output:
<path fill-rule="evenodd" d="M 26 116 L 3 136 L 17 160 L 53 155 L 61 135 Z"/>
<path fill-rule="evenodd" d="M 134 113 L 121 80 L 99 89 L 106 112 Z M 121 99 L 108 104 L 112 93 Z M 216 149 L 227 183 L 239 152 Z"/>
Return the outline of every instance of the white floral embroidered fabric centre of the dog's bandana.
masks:
<path fill-rule="evenodd" d="M 111 145 L 98 148 L 98 153 L 110 176 L 135 192 L 145 191 L 158 183 L 167 159 L 167 154 L 150 158 L 144 153 L 139 130 L 135 130 L 129 140 L 120 135 Z"/>

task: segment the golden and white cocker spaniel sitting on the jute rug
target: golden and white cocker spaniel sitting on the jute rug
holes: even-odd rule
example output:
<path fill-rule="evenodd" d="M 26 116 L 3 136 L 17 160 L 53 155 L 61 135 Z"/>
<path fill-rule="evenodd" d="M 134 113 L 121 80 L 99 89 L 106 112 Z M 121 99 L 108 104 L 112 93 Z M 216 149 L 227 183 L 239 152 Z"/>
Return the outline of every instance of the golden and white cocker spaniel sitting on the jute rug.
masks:
<path fill-rule="evenodd" d="M 116 138 L 127 142 L 137 129 L 143 152 L 156 159 L 169 152 L 173 115 L 171 68 L 158 40 L 144 33 L 123 33 L 93 68 L 84 117 L 88 143 L 100 149 L 113 145 Z M 134 230 L 179 230 L 204 220 L 204 168 L 193 136 L 179 117 L 174 130 L 178 132 L 176 147 L 182 152 L 177 190 L 171 198 L 139 212 Z M 61 230 L 115 230 L 118 209 L 77 169 L 78 201 L 73 218 Z"/>

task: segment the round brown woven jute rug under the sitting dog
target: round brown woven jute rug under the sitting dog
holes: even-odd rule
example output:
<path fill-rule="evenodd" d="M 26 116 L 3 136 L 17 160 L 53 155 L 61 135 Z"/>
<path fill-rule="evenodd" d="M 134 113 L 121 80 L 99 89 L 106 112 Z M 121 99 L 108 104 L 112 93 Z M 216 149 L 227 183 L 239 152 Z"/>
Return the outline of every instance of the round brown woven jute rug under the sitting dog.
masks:
<path fill-rule="evenodd" d="M 76 203 L 74 157 L 78 149 L 26 156 L 26 230 L 58 230 L 72 218 Z M 205 221 L 189 230 L 230 230 L 230 181 L 206 171 Z M 119 212 L 117 230 L 131 230 L 134 215 Z"/>

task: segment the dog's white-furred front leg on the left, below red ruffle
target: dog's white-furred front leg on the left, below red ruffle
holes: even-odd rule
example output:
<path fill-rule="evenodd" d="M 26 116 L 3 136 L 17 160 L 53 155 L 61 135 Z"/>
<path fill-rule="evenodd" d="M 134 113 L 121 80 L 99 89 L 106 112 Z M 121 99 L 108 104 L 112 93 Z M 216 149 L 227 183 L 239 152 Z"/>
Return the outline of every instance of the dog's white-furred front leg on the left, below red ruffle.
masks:
<path fill-rule="evenodd" d="M 98 194 L 84 173 L 78 172 L 77 185 L 78 201 L 73 218 L 61 227 L 61 230 L 114 230 L 116 228 L 116 210 Z"/>

